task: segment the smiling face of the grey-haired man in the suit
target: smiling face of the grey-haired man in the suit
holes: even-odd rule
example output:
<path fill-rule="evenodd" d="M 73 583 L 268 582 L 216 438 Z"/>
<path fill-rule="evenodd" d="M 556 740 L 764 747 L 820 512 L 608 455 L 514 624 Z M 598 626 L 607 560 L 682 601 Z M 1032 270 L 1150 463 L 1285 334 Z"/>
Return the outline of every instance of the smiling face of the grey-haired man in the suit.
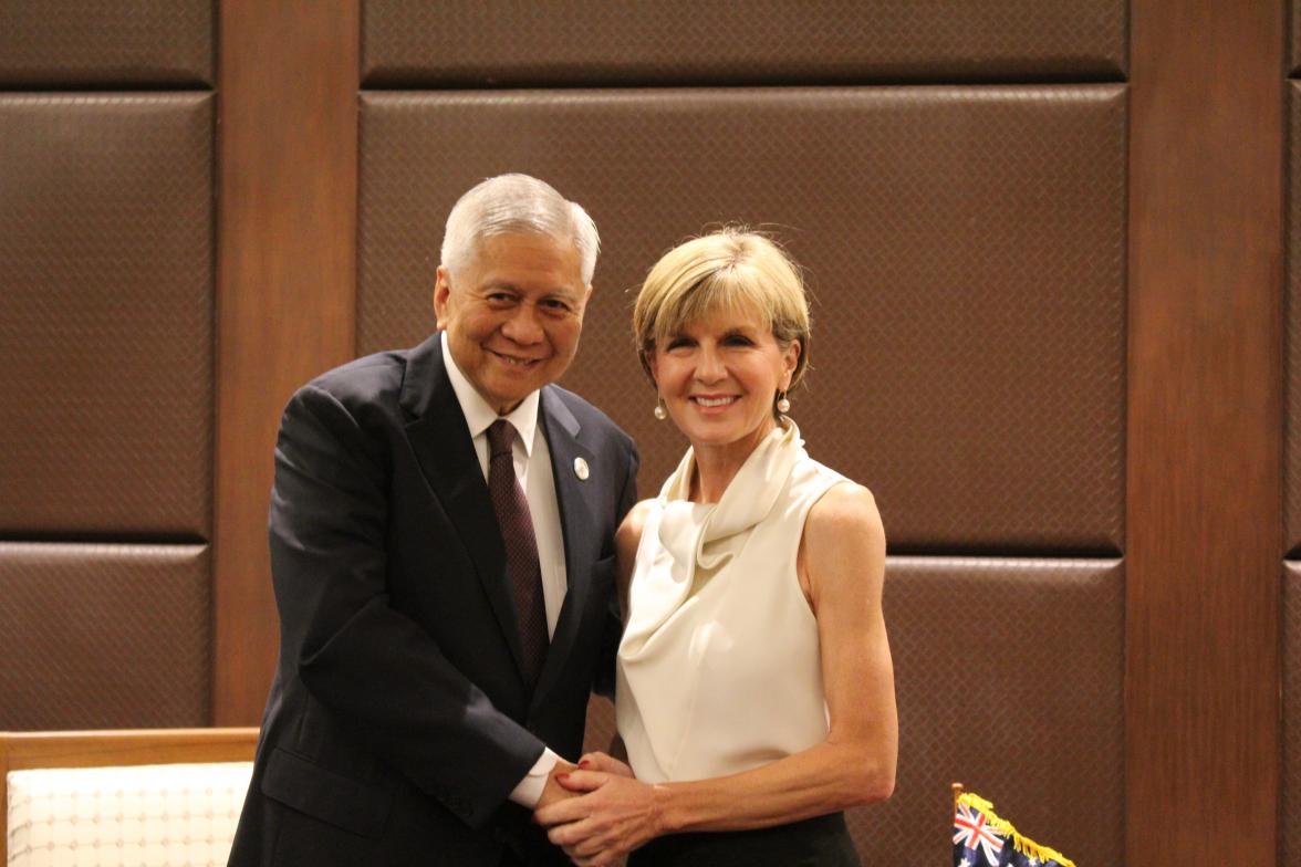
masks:
<path fill-rule="evenodd" d="M 438 268 L 433 311 L 457 367 L 505 415 L 569 368 L 592 287 L 574 244 L 528 233 L 481 239 L 461 270 Z"/>

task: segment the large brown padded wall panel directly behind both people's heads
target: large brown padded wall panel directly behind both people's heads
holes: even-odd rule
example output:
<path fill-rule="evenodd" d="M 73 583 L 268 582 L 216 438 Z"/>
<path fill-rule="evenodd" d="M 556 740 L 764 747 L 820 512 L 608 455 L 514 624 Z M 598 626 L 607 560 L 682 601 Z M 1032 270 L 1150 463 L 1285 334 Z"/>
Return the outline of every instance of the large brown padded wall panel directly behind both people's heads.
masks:
<path fill-rule="evenodd" d="M 461 192 L 546 178 L 604 248 L 565 383 L 637 438 L 652 494 L 683 441 L 624 290 L 706 224 L 765 225 L 814 294 L 792 416 L 892 550 L 1120 550 L 1123 87 L 368 94 L 360 159 L 360 351 L 433 329 Z"/>

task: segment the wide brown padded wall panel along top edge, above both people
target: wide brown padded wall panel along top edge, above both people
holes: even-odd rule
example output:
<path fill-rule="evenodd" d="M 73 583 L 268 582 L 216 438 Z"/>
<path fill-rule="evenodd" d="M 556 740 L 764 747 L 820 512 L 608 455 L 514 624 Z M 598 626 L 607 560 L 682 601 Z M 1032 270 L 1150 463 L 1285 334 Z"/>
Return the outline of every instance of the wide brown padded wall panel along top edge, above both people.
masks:
<path fill-rule="evenodd" d="M 1124 0 L 366 0 L 362 81 L 394 84 L 1118 79 Z"/>

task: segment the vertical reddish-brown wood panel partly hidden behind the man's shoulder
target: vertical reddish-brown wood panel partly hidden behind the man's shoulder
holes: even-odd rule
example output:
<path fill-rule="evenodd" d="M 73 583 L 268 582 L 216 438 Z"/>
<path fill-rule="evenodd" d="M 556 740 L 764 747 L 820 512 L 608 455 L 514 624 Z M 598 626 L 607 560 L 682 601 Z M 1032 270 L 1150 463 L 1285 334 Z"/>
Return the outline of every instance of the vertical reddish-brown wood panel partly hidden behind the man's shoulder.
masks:
<path fill-rule="evenodd" d="M 278 643 L 280 412 L 354 350 L 359 31 L 356 0 L 220 8 L 213 716 L 237 725 L 260 719 Z"/>

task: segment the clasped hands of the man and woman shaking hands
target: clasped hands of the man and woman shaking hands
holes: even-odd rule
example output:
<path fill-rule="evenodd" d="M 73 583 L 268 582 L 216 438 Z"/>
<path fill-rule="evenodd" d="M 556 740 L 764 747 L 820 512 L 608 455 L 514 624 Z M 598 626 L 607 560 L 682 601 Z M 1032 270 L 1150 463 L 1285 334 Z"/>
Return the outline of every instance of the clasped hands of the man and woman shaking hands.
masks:
<path fill-rule="evenodd" d="M 639 783 L 632 768 L 605 753 L 558 766 L 533 822 L 579 867 L 618 863 L 662 831 L 656 786 Z"/>

